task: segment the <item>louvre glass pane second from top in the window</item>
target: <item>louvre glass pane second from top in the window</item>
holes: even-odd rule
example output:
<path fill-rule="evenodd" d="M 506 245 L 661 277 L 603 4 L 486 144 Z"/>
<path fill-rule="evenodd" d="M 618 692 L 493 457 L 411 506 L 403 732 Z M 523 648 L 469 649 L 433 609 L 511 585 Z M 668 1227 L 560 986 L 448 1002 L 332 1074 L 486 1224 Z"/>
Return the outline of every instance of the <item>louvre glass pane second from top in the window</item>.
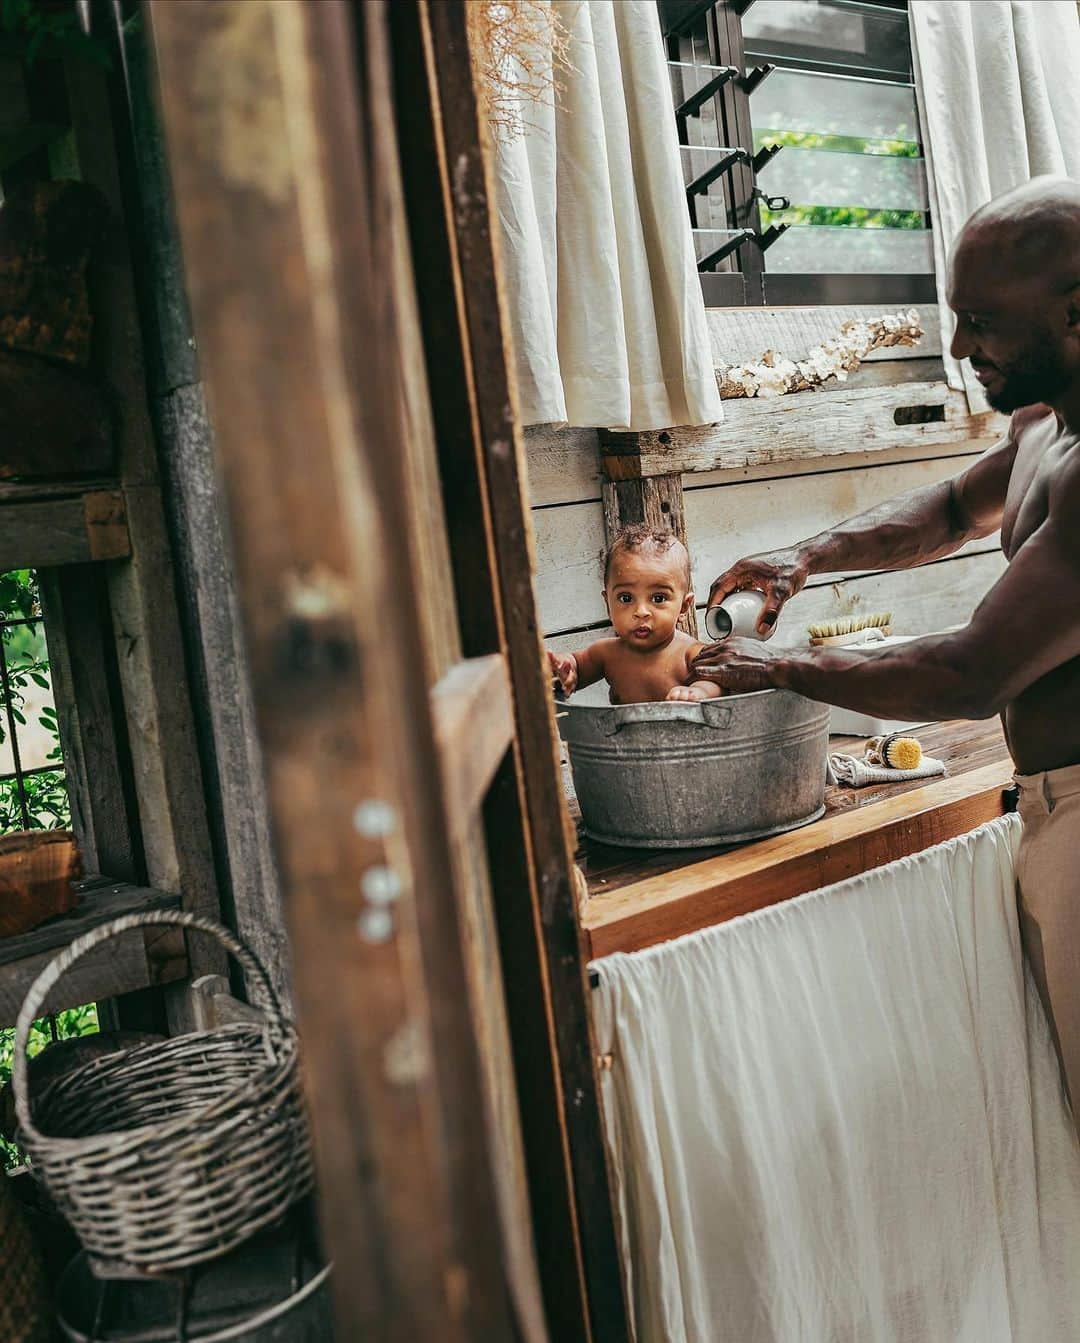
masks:
<path fill-rule="evenodd" d="M 866 140 L 919 138 L 915 90 L 873 79 L 775 70 L 751 94 L 750 114 L 756 133 L 814 130 Z"/>

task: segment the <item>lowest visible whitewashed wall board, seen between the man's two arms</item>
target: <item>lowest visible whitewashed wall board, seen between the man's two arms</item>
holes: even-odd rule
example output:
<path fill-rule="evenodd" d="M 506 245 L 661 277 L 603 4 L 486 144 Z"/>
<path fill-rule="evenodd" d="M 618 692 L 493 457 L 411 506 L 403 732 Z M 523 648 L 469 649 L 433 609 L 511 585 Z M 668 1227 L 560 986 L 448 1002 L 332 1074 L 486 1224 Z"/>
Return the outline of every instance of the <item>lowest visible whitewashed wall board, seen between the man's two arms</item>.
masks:
<path fill-rule="evenodd" d="M 938 560 L 917 569 L 862 573 L 841 582 L 819 582 L 793 598 L 772 637 L 778 649 L 805 647 L 806 627 L 823 620 L 892 611 L 895 634 L 928 634 L 963 624 L 1005 572 L 1001 551 Z M 704 606 L 697 608 L 699 620 Z M 570 653 L 611 634 L 606 619 L 544 641 L 553 653 Z"/>

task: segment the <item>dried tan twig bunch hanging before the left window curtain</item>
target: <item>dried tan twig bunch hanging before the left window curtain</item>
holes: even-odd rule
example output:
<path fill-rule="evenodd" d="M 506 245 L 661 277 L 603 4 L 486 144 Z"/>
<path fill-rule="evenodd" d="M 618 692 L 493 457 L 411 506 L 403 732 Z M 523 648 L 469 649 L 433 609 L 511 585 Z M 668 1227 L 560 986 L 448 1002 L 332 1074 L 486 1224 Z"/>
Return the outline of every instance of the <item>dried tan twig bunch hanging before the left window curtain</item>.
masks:
<path fill-rule="evenodd" d="M 529 106 L 559 99 L 574 68 L 570 31 L 549 0 L 469 0 L 466 13 L 481 114 L 513 140 Z"/>

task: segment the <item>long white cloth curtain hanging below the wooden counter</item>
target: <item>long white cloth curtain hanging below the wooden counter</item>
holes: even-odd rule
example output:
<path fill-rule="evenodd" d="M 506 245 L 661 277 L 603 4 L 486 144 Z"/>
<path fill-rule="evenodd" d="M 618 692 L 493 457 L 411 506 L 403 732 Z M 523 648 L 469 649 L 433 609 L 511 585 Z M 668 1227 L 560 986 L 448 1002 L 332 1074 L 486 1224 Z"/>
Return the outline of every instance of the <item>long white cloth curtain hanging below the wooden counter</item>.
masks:
<path fill-rule="evenodd" d="M 1080 1339 L 1018 834 L 595 963 L 638 1343 Z"/>

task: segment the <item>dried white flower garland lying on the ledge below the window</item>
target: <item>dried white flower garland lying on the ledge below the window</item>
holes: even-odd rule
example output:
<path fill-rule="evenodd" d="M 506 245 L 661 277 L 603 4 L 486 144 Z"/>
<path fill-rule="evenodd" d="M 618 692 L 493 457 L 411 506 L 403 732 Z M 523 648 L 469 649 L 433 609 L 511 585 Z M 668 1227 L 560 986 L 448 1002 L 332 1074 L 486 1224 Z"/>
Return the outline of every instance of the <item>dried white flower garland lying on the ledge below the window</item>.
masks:
<path fill-rule="evenodd" d="M 806 359 L 791 360 L 767 349 L 756 363 L 717 368 L 716 383 L 724 399 L 805 392 L 830 377 L 845 381 L 872 349 L 917 345 L 921 338 L 923 324 L 913 308 L 907 313 L 884 313 L 868 321 L 845 322 L 831 340 L 815 345 Z"/>

